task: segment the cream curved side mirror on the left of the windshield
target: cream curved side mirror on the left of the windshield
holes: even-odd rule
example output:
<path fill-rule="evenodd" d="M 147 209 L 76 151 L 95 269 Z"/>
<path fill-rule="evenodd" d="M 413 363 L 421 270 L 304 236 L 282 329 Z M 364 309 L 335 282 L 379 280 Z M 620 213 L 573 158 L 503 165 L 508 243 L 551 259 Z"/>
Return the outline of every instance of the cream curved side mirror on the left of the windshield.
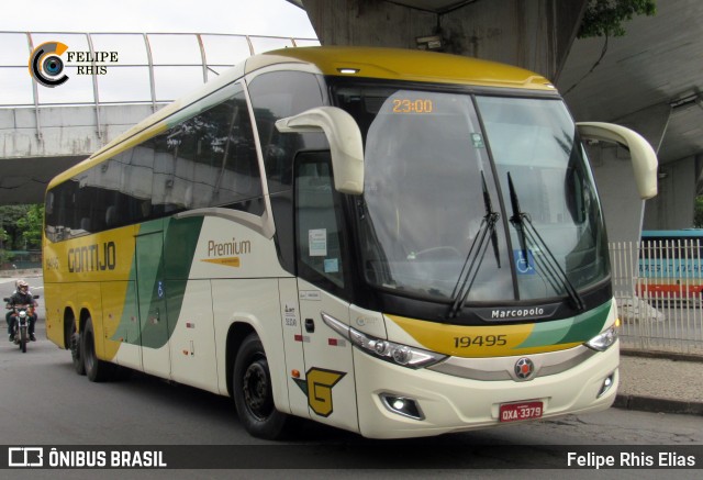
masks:
<path fill-rule="evenodd" d="M 359 125 L 336 107 L 317 107 L 276 122 L 281 133 L 324 132 L 332 153 L 334 188 L 341 193 L 364 193 L 364 143 Z"/>

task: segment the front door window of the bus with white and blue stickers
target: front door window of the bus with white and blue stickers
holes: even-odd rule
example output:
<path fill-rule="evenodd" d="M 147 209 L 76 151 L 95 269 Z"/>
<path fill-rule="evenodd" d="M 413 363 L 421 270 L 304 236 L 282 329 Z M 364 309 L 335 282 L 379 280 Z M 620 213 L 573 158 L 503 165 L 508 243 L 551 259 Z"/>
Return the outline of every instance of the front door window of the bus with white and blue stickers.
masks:
<path fill-rule="evenodd" d="M 295 161 L 295 231 L 301 278 L 338 293 L 345 287 L 339 193 L 330 153 L 302 153 Z"/>

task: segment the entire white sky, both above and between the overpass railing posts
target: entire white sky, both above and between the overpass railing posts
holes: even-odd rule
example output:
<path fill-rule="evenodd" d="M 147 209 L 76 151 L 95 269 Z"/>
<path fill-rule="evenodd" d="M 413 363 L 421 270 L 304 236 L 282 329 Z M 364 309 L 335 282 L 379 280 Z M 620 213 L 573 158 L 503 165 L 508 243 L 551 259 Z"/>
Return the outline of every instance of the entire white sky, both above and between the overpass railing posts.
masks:
<path fill-rule="evenodd" d="M 45 42 L 63 42 L 69 51 L 90 49 L 85 33 L 91 33 L 94 51 L 119 53 L 116 67 L 98 78 L 100 102 L 152 100 L 147 48 L 142 35 L 104 33 L 148 33 L 155 65 L 156 101 L 170 101 L 203 82 L 198 33 L 209 65 L 208 80 L 254 53 L 292 46 L 286 38 L 225 37 L 221 34 L 294 37 L 297 45 L 319 44 L 306 13 L 284 0 L 0 0 L 0 107 L 91 102 L 91 75 L 80 75 L 64 54 L 69 81 L 58 88 L 41 87 L 33 92 L 27 70 L 32 33 L 34 47 Z M 12 33 L 10 33 L 12 32 Z M 46 34 L 43 34 L 46 33 Z M 80 34 L 67 34 L 80 33 Z M 82 34 L 82 35 L 81 35 Z M 142 67 L 140 67 L 142 66 Z"/>

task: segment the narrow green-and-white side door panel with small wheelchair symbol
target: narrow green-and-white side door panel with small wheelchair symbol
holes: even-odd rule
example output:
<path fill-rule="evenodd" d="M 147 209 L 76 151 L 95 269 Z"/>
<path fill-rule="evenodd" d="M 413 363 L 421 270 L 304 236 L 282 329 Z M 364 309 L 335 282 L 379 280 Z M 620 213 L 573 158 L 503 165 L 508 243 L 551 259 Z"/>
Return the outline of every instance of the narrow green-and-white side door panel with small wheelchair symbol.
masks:
<path fill-rule="evenodd" d="M 136 237 L 136 287 L 142 331 L 140 344 L 144 371 L 169 378 L 169 331 L 163 261 L 164 233 L 161 222 L 156 223 L 158 228 L 148 228 L 153 225 L 150 223 L 142 225 Z"/>

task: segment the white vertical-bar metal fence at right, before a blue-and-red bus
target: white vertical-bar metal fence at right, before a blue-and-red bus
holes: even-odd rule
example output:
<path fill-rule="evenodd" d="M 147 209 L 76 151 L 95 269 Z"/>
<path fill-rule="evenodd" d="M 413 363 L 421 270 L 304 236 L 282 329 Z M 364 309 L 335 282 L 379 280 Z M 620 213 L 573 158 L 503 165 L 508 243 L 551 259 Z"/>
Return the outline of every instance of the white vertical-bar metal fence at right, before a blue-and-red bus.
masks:
<path fill-rule="evenodd" d="M 703 355 L 703 244 L 610 244 L 623 346 Z"/>

